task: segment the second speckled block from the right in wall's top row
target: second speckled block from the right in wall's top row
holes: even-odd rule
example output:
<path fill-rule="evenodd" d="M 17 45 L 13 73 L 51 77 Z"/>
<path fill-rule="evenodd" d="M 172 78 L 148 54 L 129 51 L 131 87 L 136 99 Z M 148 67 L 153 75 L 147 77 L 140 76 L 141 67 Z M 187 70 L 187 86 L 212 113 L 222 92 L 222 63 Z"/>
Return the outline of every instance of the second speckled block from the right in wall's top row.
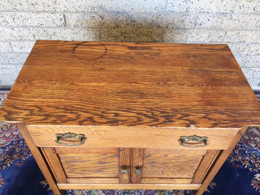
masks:
<path fill-rule="evenodd" d="M 168 0 L 167 12 L 231 13 L 236 0 Z"/>

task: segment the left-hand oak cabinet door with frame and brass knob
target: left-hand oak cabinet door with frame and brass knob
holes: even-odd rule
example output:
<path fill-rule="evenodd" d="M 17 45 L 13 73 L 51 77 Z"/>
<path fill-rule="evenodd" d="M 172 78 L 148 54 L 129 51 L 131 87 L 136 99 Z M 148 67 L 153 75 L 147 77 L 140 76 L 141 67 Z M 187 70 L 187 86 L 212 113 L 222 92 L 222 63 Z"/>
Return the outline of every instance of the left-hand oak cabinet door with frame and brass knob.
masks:
<path fill-rule="evenodd" d="M 120 174 L 120 167 L 130 171 L 131 148 L 42 147 L 41 150 L 57 183 L 129 183 L 130 173 Z"/>

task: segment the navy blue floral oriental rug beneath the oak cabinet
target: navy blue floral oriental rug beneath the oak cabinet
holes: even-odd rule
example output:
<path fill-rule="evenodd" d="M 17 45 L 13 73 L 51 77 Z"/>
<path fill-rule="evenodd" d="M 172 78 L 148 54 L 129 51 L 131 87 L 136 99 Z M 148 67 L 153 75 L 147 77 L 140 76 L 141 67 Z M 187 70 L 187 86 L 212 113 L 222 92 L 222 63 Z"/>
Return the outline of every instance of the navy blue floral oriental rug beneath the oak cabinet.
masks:
<path fill-rule="evenodd" d="M 8 95 L 0 90 L 0 107 Z M 260 101 L 260 93 L 256 93 Z M 260 113 L 259 113 L 260 114 Z M 260 127 L 250 127 L 204 194 L 260 193 Z M 234 186 L 235 184 L 235 186 Z M 16 124 L 0 120 L 0 194 L 53 194 Z M 66 195 L 184 195 L 191 190 L 66 190 Z"/>

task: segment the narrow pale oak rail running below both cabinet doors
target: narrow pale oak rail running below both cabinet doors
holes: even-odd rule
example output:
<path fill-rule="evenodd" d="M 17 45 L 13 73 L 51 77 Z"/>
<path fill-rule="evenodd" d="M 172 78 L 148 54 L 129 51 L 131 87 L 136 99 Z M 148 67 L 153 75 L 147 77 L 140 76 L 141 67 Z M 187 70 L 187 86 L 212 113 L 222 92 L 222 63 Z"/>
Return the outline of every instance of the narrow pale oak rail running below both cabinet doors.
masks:
<path fill-rule="evenodd" d="M 109 189 L 109 190 L 198 190 L 201 184 L 145 184 L 145 183 L 58 183 L 60 190 L 79 190 L 79 189 Z"/>

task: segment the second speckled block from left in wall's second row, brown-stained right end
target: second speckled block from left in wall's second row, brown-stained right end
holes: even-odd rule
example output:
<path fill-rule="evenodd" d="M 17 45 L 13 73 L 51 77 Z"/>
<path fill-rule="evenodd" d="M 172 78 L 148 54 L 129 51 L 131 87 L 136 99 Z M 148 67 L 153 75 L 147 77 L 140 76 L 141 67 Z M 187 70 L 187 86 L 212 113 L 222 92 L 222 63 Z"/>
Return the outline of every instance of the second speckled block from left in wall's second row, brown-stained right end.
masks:
<path fill-rule="evenodd" d="M 65 13 L 68 27 L 123 28 L 129 27 L 129 14 L 74 14 Z"/>

